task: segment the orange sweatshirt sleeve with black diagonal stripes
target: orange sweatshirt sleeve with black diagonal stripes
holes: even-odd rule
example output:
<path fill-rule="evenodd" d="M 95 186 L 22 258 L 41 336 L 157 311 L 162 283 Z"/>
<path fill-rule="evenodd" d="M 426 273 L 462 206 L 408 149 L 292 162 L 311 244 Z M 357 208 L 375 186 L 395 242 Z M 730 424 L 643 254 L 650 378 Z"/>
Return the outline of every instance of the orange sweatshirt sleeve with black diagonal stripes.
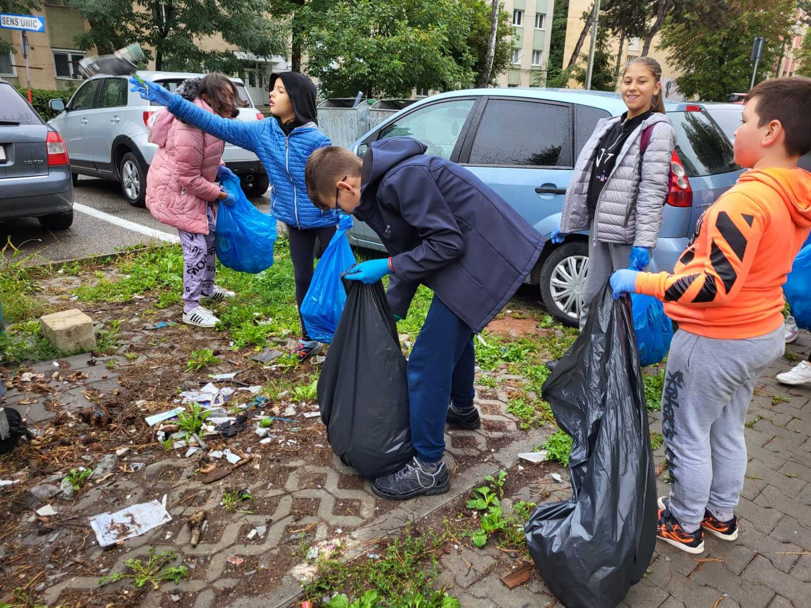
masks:
<path fill-rule="evenodd" d="M 697 243 L 691 246 L 709 254 L 702 271 L 640 272 L 637 292 L 693 308 L 729 306 L 749 276 L 767 222 L 766 213 L 748 196 L 732 193 L 722 197 L 707 209 L 702 222 L 698 239 L 706 249 Z"/>

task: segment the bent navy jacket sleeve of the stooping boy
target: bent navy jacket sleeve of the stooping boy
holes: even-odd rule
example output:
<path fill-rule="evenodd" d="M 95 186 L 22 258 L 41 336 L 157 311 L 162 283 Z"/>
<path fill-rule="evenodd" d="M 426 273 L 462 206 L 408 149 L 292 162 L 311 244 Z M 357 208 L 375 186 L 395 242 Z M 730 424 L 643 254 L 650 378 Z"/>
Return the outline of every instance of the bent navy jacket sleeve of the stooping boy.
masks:
<path fill-rule="evenodd" d="M 380 185 L 378 196 L 417 229 L 422 242 L 392 258 L 398 278 L 418 282 L 460 258 L 465 250 L 461 229 L 431 174 L 418 165 L 405 166 Z"/>

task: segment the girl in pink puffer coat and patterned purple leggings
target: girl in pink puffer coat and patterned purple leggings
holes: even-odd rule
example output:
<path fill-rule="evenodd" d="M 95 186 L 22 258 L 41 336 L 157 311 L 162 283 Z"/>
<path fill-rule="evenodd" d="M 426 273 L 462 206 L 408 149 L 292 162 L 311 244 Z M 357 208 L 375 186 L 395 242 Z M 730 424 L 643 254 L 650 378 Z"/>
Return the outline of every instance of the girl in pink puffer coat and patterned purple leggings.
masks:
<path fill-rule="evenodd" d="M 178 92 L 208 112 L 233 118 L 240 101 L 222 74 L 184 81 Z M 220 190 L 215 179 L 233 176 L 222 163 L 225 143 L 162 110 L 150 141 L 158 150 L 147 174 L 146 203 L 157 220 L 178 229 L 183 249 L 183 323 L 213 328 L 220 319 L 200 306 L 200 299 L 219 302 L 233 291 L 214 285 L 214 227 L 217 201 L 233 205 L 234 195 Z"/>

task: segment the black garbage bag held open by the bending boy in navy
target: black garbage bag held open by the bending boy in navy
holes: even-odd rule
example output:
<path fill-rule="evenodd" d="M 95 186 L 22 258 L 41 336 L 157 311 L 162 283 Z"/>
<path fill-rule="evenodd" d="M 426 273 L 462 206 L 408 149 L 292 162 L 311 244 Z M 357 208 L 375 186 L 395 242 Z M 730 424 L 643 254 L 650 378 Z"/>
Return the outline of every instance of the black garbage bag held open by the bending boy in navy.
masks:
<path fill-rule="evenodd" d="M 343 315 L 318 379 L 318 405 L 333 452 L 375 479 L 414 456 L 405 357 L 383 284 L 348 281 Z"/>

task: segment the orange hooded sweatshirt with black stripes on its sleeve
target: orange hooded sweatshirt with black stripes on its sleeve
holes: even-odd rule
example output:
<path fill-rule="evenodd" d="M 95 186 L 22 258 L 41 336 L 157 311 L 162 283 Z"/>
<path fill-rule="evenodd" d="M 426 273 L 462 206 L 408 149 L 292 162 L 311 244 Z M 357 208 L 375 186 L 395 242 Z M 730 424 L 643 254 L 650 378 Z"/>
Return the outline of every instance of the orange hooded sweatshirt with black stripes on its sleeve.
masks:
<path fill-rule="evenodd" d="M 726 340 L 783 323 L 783 284 L 811 229 L 811 173 L 753 169 L 707 208 L 673 274 L 640 272 L 685 332 Z"/>

